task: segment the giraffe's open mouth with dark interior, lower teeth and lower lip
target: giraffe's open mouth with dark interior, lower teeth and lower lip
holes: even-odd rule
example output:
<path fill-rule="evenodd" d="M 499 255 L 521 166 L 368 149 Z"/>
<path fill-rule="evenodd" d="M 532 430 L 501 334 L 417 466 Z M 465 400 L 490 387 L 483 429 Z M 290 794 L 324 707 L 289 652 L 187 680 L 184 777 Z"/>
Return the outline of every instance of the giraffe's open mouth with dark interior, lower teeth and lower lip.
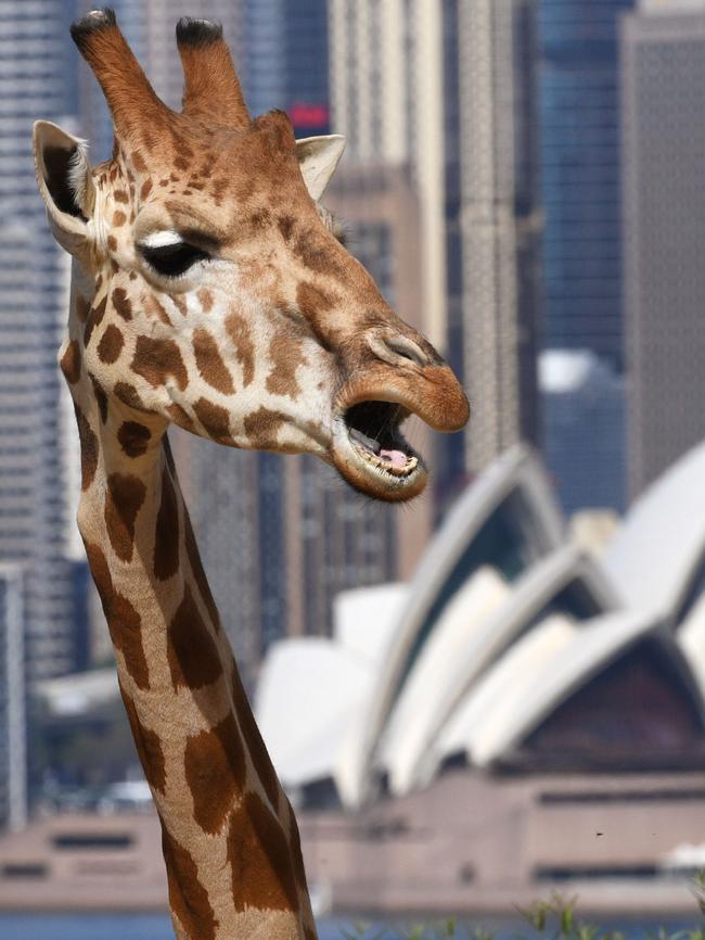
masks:
<path fill-rule="evenodd" d="M 410 499 L 426 482 L 426 468 L 401 433 L 410 415 L 393 402 L 360 402 L 342 415 L 334 460 L 356 488 L 383 499 Z M 343 439 L 343 440 L 341 440 Z"/>

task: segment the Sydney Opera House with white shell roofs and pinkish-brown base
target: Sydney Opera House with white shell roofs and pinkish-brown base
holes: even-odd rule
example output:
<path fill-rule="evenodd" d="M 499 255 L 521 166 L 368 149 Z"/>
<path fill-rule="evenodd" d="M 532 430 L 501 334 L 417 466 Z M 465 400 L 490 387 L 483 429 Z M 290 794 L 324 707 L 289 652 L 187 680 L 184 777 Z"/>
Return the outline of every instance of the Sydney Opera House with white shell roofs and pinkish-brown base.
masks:
<path fill-rule="evenodd" d="M 693 910 L 705 866 L 705 445 L 601 549 L 538 458 L 464 493 L 410 584 L 274 646 L 256 711 L 338 907 Z"/>

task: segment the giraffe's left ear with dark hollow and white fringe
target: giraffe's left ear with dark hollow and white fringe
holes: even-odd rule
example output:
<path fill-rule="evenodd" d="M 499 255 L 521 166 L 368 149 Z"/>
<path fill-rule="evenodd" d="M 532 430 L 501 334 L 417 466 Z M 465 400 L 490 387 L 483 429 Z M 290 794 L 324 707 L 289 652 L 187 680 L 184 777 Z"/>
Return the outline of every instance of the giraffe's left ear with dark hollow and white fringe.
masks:
<path fill-rule="evenodd" d="M 86 142 L 49 120 L 37 120 L 33 145 L 37 185 L 54 238 L 76 254 L 88 240 L 95 200 Z"/>

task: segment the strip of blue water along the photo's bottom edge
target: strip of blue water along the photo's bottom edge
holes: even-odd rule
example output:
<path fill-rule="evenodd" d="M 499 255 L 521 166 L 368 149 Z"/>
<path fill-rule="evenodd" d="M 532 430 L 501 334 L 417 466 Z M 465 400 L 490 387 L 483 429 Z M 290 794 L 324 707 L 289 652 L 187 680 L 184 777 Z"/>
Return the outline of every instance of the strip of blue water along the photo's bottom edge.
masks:
<path fill-rule="evenodd" d="M 352 919 L 329 918 L 320 922 L 320 940 L 344 940 L 342 928 L 349 928 Z M 643 938 L 650 931 L 655 936 L 659 927 L 674 932 L 693 929 L 703 923 L 700 920 L 698 924 L 696 915 L 689 919 L 671 917 L 659 922 L 589 919 L 598 920 L 604 929 L 621 930 L 625 940 Z M 497 940 L 502 937 L 529 937 L 531 933 L 526 923 L 518 920 L 484 917 L 476 923 L 495 931 Z M 399 932 L 392 923 L 377 923 L 367 936 L 395 940 Z M 174 931 L 168 917 L 161 914 L 0 914 L 0 940 L 174 940 Z"/>

